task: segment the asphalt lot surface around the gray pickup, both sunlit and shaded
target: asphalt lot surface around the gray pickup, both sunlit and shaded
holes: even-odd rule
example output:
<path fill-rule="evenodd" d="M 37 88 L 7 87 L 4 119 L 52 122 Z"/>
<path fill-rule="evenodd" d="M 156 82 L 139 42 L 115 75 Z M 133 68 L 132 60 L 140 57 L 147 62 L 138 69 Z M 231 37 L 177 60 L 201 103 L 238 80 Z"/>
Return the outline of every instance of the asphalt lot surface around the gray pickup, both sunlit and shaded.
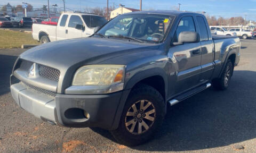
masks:
<path fill-rule="evenodd" d="M 0 152 L 256 152 L 256 40 L 241 41 L 228 90 L 210 88 L 174 105 L 156 137 L 132 148 L 108 131 L 51 125 L 19 108 L 9 75 L 24 50 L 0 49 Z"/>

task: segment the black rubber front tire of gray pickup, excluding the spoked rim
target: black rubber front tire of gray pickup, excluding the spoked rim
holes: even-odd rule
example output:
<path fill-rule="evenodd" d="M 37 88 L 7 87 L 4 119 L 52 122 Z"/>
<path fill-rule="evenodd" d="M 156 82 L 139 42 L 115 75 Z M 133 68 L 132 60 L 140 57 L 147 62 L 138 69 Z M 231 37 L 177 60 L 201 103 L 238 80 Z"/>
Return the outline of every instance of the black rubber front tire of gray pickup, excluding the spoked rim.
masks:
<path fill-rule="evenodd" d="M 131 108 L 134 104 L 138 105 L 138 101 L 144 101 L 144 99 L 146 101 L 146 104 L 144 104 L 144 102 L 143 102 L 144 106 L 147 106 L 148 101 L 150 101 L 151 102 L 150 104 L 153 104 L 152 106 L 154 106 L 154 107 L 151 107 L 151 105 L 150 105 L 149 107 L 151 107 L 151 108 L 147 107 L 144 112 L 145 114 L 147 114 L 147 112 L 149 112 L 148 111 L 149 109 L 150 109 L 150 112 L 152 111 L 152 108 L 155 109 L 155 113 L 153 114 L 154 121 L 151 122 L 145 118 L 143 118 L 142 120 L 138 119 L 137 117 L 140 113 L 138 113 L 138 114 L 136 113 L 137 115 L 133 116 L 134 119 L 131 119 L 135 122 L 135 118 L 137 118 L 137 122 L 135 122 L 135 126 L 134 126 L 135 128 L 133 128 L 135 131 L 136 130 L 139 131 L 139 124 L 141 124 L 143 122 L 144 123 L 151 122 L 151 123 L 149 124 L 150 126 L 148 126 L 147 130 L 146 130 L 145 126 L 143 126 L 143 128 L 141 126 L 141 129 L 146 130 L 146 131 L 144 131 L 140 134 L 139 134 L 139 132 L 134 134 L 134 133 L 129 132 L 129 130 L 126 128 L 125 121 L 126 121 L 126 117 L 128 116 L 126 113 L 129 110 L 131 110 Z M 141 102 L 140 102 L 140 105 L 141 105 Z M 127 98 L 126 104 L 124 106 L 121 120 L 119 122 L 119 126 L 116 130 L 110 131 L 111 134 L 114 136 L 114 138 L 117 140 L 118 143 L 121 143 L 126 146 L 137 146 L 142 143 L 145 143 L 150 138 L 152 138 L 153 135 L 158 130 L 158 128 L 161 127 L 164 116 L 165 116 L 165 114 L 164 114 L 165 107 L 164 106 L 165 106 L 164 99 L 163 99 L 162 95 L 155 88 L 147 86 L 145 84 L 140 84 L 140 86 L 138 86 L 137 88 L 135 88 L 131 91 L 131 94 Z M 139 108 L 139 110 L 140 110 L 140 108 Z M 131 112 L 131 111 L 129 111 L 129 112 Z M 134 113 L 134 112 L 132 112 L 132 113 Z M 143 116 L 143 115 L 145 115 L 144 113 L 140 114 L 140 115 Z M 131 121 L 131 120 L 129 120 L 129 121 Z M 126 124 L 127 124 L 127 122 L 126 122 Z M 133 126 L 133 124 L 132 124 L 132 126 Z"/>

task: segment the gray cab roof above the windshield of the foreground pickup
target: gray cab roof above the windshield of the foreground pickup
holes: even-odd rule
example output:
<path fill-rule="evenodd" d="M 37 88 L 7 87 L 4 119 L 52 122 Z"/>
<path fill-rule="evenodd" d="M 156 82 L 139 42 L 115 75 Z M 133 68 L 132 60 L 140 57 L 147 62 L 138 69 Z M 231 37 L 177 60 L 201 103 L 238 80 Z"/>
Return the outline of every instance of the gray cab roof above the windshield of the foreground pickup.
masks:
<path fill-rule="evenodd" d="M 174 11 L 174 10 L 154 10 L 154 11 L 140 11 L 140 12 L 130 12 L 126 14 L 135 14 L 135 13 L 148 13 L 148 14 L 165 14 L 165 15 L 174 15 L 179 16 L 180 14 L 198 14 L 195 12 L 189 12 L 189 11 Z"/>

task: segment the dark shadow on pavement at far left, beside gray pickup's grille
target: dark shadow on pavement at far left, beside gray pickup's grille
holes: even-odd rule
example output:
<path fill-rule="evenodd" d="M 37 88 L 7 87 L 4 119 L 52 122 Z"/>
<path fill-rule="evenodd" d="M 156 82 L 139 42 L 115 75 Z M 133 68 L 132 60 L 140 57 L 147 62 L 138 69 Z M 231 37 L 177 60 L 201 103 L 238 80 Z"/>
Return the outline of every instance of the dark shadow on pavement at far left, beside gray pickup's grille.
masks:
<path fill-rule="evenodd" d="M 17 57 L 0 54 L 0 95 L 10 92 L 10 75 Z"/>

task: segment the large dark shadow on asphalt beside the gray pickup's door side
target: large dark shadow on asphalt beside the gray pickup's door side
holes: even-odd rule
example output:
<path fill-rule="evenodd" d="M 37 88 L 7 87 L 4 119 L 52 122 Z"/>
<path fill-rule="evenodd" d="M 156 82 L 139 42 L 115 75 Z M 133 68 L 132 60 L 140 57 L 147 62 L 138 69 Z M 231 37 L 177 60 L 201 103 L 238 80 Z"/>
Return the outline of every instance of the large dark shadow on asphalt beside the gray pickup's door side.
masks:
<path fill-rule="evenodd" d="M 188 151 L 256 138 L 256 72 L 234 71 L 225 91 L 208 89 L 168 109 L 161 131 L 142 151 Z M 105 130 L 94 132 L 113 140 Z"/>

